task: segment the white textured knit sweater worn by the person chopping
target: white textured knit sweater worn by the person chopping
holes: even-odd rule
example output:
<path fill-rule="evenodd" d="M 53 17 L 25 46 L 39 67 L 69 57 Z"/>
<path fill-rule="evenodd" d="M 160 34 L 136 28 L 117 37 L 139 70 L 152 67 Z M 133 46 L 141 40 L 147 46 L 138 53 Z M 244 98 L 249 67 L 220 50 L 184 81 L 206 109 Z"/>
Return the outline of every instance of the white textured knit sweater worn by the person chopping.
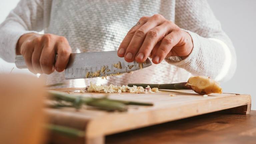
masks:
<path fill-rule="evenodd" d="M 157 13 L 191 35 L 194 46 L 186 59 L 166 58 L 109 80 L 65 80 L 63 72 L 54 72 L 46 76 L 47 83 L 66 81 L 69 87 L 84 87 L 90 81 L 115 85 L 183 82 L 191 74 L 216 80 L 232 77 L 235 50 L 206 0 L 21 0 L 0 25 L 0 56 L 14 62 L 19 37 L 42 30 L 66 37 L 73 53 L 117 50 L 140 17 Z"/>

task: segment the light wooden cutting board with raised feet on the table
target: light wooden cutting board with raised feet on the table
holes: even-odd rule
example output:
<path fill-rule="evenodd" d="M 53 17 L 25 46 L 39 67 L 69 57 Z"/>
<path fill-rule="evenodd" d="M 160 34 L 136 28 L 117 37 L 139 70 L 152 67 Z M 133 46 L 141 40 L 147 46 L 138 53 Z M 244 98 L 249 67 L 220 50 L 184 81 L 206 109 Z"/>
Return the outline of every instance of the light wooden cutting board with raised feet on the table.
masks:
<path fill-rule="evenodd" d="M 55 89 L 79 92 L 81 88 Z M 170 96 L 175 94 L 176 96 Z M 103 96 L 102 93 L 83 93 L 85 96 Z M 190 90 L 168 90 L 149 94 L 109 94 L 109 98 L 128 101 L 152 102 L 154 106 L 129 106 L 127 112 L 106 112 L 84 108 L 47 109 L 50 122 L 85 131 L 85 139 L 69 139 L 51 135 L 55 143 L 102 144 L 105 135 L 174 121 L 205 113 L 228 109 L 231 113 L 249 114 L 251 96 L 247 94 L 210 94 L 203 97 Z"/>

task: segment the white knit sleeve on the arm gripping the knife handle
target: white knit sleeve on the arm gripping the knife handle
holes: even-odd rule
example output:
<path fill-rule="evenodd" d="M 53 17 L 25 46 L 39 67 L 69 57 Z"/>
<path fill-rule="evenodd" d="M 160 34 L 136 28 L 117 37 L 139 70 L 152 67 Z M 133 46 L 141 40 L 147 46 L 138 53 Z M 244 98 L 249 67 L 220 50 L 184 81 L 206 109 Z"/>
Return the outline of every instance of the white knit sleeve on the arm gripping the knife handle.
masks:
<path fill-rule="evenodd" d="M 44 22 L 43 0 L 21 0 L 0 25 L 0 57 L 14 62 L 20 36 L 42 31 Z"/>

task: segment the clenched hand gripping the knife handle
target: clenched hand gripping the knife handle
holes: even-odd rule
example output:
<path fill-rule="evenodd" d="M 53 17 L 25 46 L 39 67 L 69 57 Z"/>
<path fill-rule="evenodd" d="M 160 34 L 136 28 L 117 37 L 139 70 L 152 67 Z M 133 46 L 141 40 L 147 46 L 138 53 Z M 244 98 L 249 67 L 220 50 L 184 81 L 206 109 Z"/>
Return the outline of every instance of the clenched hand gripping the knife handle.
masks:
<path fill-rule="evenodd" d="M 53 34 L 28 33 L 17 43 L 16 54 L 22 55 L 32 73 L 51 74 L 63 71 L 68 63 L 71 48 L 65 37 Z M 55 54 L 58 54 L 55 66 Z"/>

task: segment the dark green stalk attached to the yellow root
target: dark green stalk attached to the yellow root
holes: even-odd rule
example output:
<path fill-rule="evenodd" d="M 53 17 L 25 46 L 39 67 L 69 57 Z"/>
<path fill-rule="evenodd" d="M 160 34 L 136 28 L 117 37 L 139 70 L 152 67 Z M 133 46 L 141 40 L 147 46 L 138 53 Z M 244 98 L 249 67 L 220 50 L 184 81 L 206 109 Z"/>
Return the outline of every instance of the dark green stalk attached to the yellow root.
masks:
<path fill-rule="evenodd" d="M 159 88 L 159 89 L 170 89 L 170 90 L 187 90 L 191 89 L 189 86 L 185 86 L 187 82 L 182 83 L 173 83 L 173 84 L 128 84 L 129 87 L 135 86 L 142 86 L 143 88 L 146 88 L 148 85 L 151 88 Z"/>

